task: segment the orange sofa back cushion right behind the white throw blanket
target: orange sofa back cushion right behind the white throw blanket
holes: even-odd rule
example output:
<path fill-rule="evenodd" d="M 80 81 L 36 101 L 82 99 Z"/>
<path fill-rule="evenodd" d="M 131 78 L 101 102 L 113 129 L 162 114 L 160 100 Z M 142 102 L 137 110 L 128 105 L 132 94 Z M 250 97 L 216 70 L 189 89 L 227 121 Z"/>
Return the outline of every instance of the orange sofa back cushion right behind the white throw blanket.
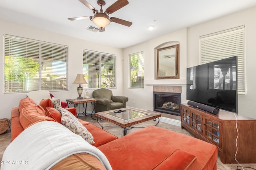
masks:
<path fill-rule="evenodd" d="M 54 121 L 54 119 L 46 116 L 44 109 L 39 105 L 25 107 L 20 112 L 20 124 L 23 129 L 40 121 Z"/>

